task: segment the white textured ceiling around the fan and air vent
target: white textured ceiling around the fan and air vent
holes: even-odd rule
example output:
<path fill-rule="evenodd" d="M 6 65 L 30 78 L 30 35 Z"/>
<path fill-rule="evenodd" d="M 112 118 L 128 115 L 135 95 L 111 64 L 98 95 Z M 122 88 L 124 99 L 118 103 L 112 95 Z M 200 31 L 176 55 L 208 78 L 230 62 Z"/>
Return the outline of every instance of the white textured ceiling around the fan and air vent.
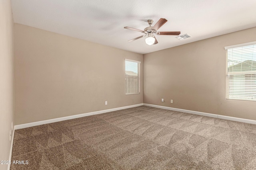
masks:
<path fill-rule="evenodd" d="M 12 11 L 15 23 L 141 54 L 256 27 L 256 0 L 12 0 Z M 158 31 L 192 37 L 128 42 L 144 34 L 125 26 L 144 30 L 160 18 L 168 22 Z"/>

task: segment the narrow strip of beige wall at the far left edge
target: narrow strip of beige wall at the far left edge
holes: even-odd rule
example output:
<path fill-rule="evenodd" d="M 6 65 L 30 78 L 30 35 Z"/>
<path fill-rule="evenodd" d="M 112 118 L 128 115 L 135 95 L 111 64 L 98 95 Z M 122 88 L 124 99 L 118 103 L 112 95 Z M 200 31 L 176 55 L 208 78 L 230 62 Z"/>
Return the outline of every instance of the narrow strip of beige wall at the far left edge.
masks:
<path fill-rule="evenodd" d="M 0 160 L 9 160 L 10 130 L 14 121 L 13 20 L 10 0 L 0 1 Z M 12 132 L 11 132 L 12 133 Z M 6 170 L 7 165 L 0 164 Z"/>

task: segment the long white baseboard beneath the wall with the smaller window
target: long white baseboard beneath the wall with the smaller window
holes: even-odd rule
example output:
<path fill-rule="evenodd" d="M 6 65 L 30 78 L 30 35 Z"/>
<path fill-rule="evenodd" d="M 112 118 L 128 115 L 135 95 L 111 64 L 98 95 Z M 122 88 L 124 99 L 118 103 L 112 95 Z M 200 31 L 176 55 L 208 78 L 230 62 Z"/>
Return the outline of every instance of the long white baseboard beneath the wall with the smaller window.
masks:
<path fill-rule="evenodd" d="M 90 113 L 82 113 L 82 114 L 79 114 L 79 115 L 60 117 L 60 118 L 56 118 L 56 119 L 48 119 L 48 120 L 37 121 L 37 122 L 32 122 L 32 123 L 25 123 L 25 124 L 21 124 L 21 125 L 15 125 L 14 129 L 23 129 L 23 128 L 26 128 L 26 127 L 44 125 L 44 124 L 47 124 L 47 123 L 54 123 L 54 122 L 57 122 L 57 121 L 76 119 L 76 118 L 79 118 L 79 117 L 97 115 L 97 114 L 101 114 L 101 113 L 107 113 L 107 112 L 110 112 L 110 111 L 117 111 L 117 110 L 132 108 L 132 107 L 138 107 L 138 106 L 143 106 L 143 104 L 135 104 L 135 105 L 130 105 L 130 106 L 117 107 L 117 108 L 113 108 L 113 109 L 94 111 L 94 112 L 90 112 Z"/>

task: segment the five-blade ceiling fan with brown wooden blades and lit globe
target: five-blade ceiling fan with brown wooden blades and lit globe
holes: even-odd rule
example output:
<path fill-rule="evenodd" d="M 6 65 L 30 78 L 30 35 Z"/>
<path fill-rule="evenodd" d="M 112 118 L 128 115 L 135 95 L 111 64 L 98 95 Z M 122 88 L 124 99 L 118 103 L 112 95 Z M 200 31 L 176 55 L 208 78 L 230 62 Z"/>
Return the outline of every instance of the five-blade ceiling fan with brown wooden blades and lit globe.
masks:
<path fill-rule="evenodd" d="M 153 23 L 153 20 L 148 20 L 148 25 L 149 27 L 146 27 L 143 30 L 140 30 L 140 29 L 136 29 L 136 28 L 132 28 L 132 27 L 124 27 L 125 29 L 130 29 L 130 30 L 133 30 L 133 31 L 139 31 L 139 32 L 142 32 L 144 33 L 145 35 L 142 35 L 140 37 L 136 37 L 134 39 L 130 39 L 128 42 L 132 42 L 136 39 L 139 39 L 139 38 L 142 38 L 142 37 L 145 37 L 147 36 L 147 38 L 145 39 L 146 41 L 146 44 L 148 45 L 152 45 L 152 44 L 157 44 L 158 41 L 156 40 L 156 37 L 155 35 L 180 35 L 180 31 L 164 31 L 164 32 L 157 32 L 157 30 L 162 27 L 162 25 L 164 25 L 164 23 L 166 23 L 167 20 L 165 18 L 160 18 L 160 20 L 157 21 L 157 23 L 152 27 L 152 23 Z"/>

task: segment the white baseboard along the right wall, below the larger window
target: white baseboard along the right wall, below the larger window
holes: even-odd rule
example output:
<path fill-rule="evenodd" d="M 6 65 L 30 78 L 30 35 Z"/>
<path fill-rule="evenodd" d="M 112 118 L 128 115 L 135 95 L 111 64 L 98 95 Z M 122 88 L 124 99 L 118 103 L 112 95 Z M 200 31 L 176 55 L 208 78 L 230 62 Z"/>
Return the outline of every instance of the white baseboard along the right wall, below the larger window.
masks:
<path fill-rule="evenodd" d="M 239 121 L 239 122 L 243 122 L 243 123 L 250 123 L 250 124 L 255 124 L 256 125 L 256 121 L 255 120 L 250 120 L 250 119 L 242 119 L 242 118 L 238 118 L 238 117 L 230 117 L 230 116 L 217 115 L 217 114 L 212 114 L 212 113 L 204 113 L 204 112 L 200 112 L 200 111 L 178 109 L 178 108 L 174 108 L 174 107 L 158 106 L 158 105 L 153 105 L 153 104 L 145 104 L 144 103 L 143 105 L 144 106 L 150 106 L 150 107 L 156 107 L 156 108 L 160 108 L 160 109 L 180 111 L 180 112 L 184 112 L 184 113 L 191 113 L 191 114 L 195 114 L 195 115 L 215 117 L 215 118 L 219 118 L 219 119 Z"/>

